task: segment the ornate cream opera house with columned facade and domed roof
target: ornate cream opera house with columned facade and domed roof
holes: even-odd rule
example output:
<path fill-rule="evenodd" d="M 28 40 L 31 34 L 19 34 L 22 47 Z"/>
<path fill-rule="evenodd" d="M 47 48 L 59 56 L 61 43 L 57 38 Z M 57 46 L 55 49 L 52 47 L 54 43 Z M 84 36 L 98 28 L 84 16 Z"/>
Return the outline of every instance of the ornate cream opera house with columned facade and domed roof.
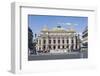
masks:
<path fill-rule="evenodd" d="M 64 53 L 80 51 L 80 35 L 75 29 L 61 26 L 44 27 L 36 38 L 36 51 L 43 53 Z"/>

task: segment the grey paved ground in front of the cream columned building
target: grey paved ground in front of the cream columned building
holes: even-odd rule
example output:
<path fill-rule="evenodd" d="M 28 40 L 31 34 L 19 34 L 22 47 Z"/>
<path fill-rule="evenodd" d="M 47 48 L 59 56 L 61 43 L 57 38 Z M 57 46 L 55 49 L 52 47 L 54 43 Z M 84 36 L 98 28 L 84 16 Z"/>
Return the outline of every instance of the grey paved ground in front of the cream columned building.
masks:
<path fill-rule="evenodd" d="M 55 59 L 80 59 L 80 58 L 88 58 L 87 51 L 63 53 L 63 54 L 41 54 L 41 55 L 28 56 L 29 61 L 31 60 L 55 60 Z"/>

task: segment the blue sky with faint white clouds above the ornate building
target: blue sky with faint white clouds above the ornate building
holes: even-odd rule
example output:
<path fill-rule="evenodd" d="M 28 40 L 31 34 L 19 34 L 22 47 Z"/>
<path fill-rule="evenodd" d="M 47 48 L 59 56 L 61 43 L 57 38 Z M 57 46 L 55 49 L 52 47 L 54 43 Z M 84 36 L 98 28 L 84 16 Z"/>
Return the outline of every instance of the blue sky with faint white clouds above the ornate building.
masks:
<path fill-rule="evenodd" d="M 88 17 L 80 16 L 47 16 L 47 15 L 29 15 L 28 26 L 32 29 L 33 34 L 39 33 L 44 26 L 52 29 L 60 25 L 67 29 L 70 25 L 77 31 L 82 32 L 88 25 Z"/>

